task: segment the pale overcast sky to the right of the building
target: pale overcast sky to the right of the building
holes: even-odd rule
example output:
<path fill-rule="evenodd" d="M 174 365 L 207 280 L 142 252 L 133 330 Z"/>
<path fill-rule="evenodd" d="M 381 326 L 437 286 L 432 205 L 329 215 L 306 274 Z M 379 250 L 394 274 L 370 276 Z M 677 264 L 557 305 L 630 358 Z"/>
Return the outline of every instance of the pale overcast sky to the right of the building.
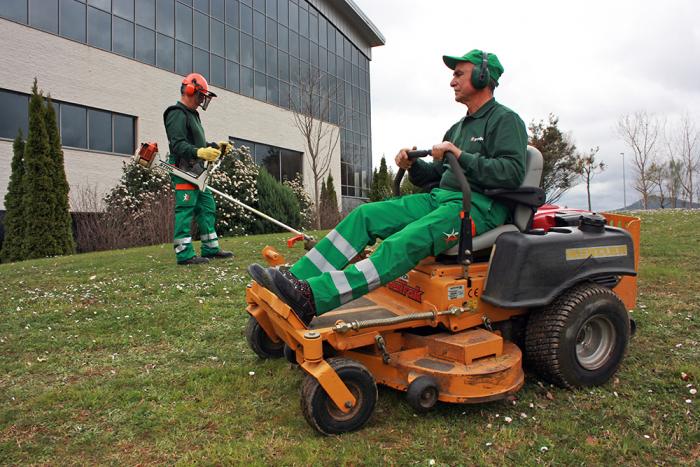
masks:
<path fill-rule="evenodd" d="M 559 116 L 582 150 L 599 146 L 608 169 L 593 179 L 594 210 L 622 206 L 618 118 L 646 110 L 669 121 L 700 115 L 700 1 L 354 0 L 386 38 L 372 50 L 375 167 L 401 147 L 440 141 L 466 107 L 454 101 L 442 55 L 496 53 L 505 68 L 496 99 L 526 124 Z M 481 5 L 481 6 L 478 6 Z M 562 205 L 586 207 L 584 185 Z"/>

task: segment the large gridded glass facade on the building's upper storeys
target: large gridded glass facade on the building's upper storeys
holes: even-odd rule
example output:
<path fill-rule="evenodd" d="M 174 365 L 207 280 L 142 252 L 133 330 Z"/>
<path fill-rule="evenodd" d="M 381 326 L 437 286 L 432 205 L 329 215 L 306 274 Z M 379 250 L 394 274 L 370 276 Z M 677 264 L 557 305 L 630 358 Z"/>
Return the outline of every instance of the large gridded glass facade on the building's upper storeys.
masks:
<path fill-rule="evenodd" d="M 369 59 L 306 0 L 2 0 L 0 16 L 286 109 L 317 80 L 342 194 L 368 194 Z"/>

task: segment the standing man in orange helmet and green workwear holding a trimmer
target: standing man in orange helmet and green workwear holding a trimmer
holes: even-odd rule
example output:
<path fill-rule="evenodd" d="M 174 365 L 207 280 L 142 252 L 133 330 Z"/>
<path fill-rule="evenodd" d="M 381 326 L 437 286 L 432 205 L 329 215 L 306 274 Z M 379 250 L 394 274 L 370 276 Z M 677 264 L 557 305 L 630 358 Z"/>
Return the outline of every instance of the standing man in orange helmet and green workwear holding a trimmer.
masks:
<path fill-rule="evenodd" d="M 197 107 L 207 110 L 216 94 L 209 91 L 207 80 L 199 73 L 190 73 L 182 80 L 180 101 L 165 109 L 163 121 L 170 144 L 168 162 L 181 170 L 201 173 L 202 161 L 215 161 L 231 151 L 228 141 L 208 144 L 199 120 Z M 216 202 L 209 191 L 171 175 L 175 187 L 175 256 L 177 264 L 203 264 L 209 258 L 231 258 L 233 253 L 219 247 L 216 224 Z M 192 247 L 192 219 L 197 221 L 202 240 L 202 256 Z"/>

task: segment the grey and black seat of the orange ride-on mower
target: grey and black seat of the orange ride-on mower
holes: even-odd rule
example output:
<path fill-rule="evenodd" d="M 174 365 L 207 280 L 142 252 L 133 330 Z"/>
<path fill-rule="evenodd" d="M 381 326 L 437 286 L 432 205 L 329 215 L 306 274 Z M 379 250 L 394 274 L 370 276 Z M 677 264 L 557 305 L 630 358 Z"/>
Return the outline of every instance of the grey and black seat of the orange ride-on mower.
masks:
<path fill-rule="evenodd" d="M 542 167 L 544 158 L 540 151 L 532 146 L 527 147 L 525 178 L 519 188 L 485 190 L 484 194 L 496 201 L 503 202 L 511 208 L 513 222 L 477 235 L 472 239 L 472 251 L 477 252 L 491 248 L 496 239 L 505 232 L 524 232 L 532 225 L 532 217 L 537 208 L 545 201 L 542 183 Z M 442 253 L 442 256 L 454 257 L 458 254 L 459 245 L 455 245 Z"/>

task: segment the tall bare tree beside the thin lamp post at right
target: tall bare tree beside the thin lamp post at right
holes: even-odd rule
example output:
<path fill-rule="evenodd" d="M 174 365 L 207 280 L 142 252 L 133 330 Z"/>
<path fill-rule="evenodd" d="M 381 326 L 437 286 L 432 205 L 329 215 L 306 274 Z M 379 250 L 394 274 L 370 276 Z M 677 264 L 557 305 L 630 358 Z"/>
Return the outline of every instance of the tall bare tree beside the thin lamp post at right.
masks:
<path fill-rule="evenodd" d="M 623 115 L 617 121 L 617 132 L 632 149 L 634 155 L 636 179 L 633 186 L 642 195 L 644 209 L 649 206 L 649 194 L 653 188 L 649 180 L 649 167 L 656 150 L 660 129 L 658 118 L 647 114 L 646 111 Z"/>

